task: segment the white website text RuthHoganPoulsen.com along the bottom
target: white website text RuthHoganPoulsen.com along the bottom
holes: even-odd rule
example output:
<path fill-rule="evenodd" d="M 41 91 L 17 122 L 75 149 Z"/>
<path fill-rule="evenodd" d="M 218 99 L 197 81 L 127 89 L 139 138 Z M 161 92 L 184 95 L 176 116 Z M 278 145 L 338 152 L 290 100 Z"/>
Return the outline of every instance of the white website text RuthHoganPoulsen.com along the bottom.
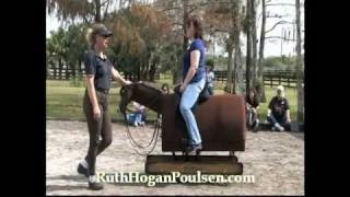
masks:
<path fill-rule="evenodd" d="M 154 186 L 158 183 L 192 183 L 192 184 L 226 184 L 226 183 L 255 183 L 254 175 L 221 175 L 221 174 L 201 174 L 197 171 L 196 174 L 180 174 L 179 172 L 172 172 L 170 174 L 152 175 L 140 172 L 117 172 L 114 174 L 106 174 L 98 172 L 95 176 L 96 182 L 100 183 L 136 183 Z"/>

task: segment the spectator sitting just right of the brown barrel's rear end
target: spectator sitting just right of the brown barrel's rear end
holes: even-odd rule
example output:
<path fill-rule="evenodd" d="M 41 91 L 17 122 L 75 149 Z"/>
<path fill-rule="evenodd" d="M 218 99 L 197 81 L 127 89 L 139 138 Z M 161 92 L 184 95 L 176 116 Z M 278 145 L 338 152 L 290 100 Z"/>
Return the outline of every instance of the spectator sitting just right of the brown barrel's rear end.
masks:
<path fill-rule="evenodd" d="M 246 109 L 248 127 L 253 128 L 253 131 L 256 132 L 259 128 L 259 101 L 255 89 L 250 89 L 248 95 L 246 96 Z"/>

